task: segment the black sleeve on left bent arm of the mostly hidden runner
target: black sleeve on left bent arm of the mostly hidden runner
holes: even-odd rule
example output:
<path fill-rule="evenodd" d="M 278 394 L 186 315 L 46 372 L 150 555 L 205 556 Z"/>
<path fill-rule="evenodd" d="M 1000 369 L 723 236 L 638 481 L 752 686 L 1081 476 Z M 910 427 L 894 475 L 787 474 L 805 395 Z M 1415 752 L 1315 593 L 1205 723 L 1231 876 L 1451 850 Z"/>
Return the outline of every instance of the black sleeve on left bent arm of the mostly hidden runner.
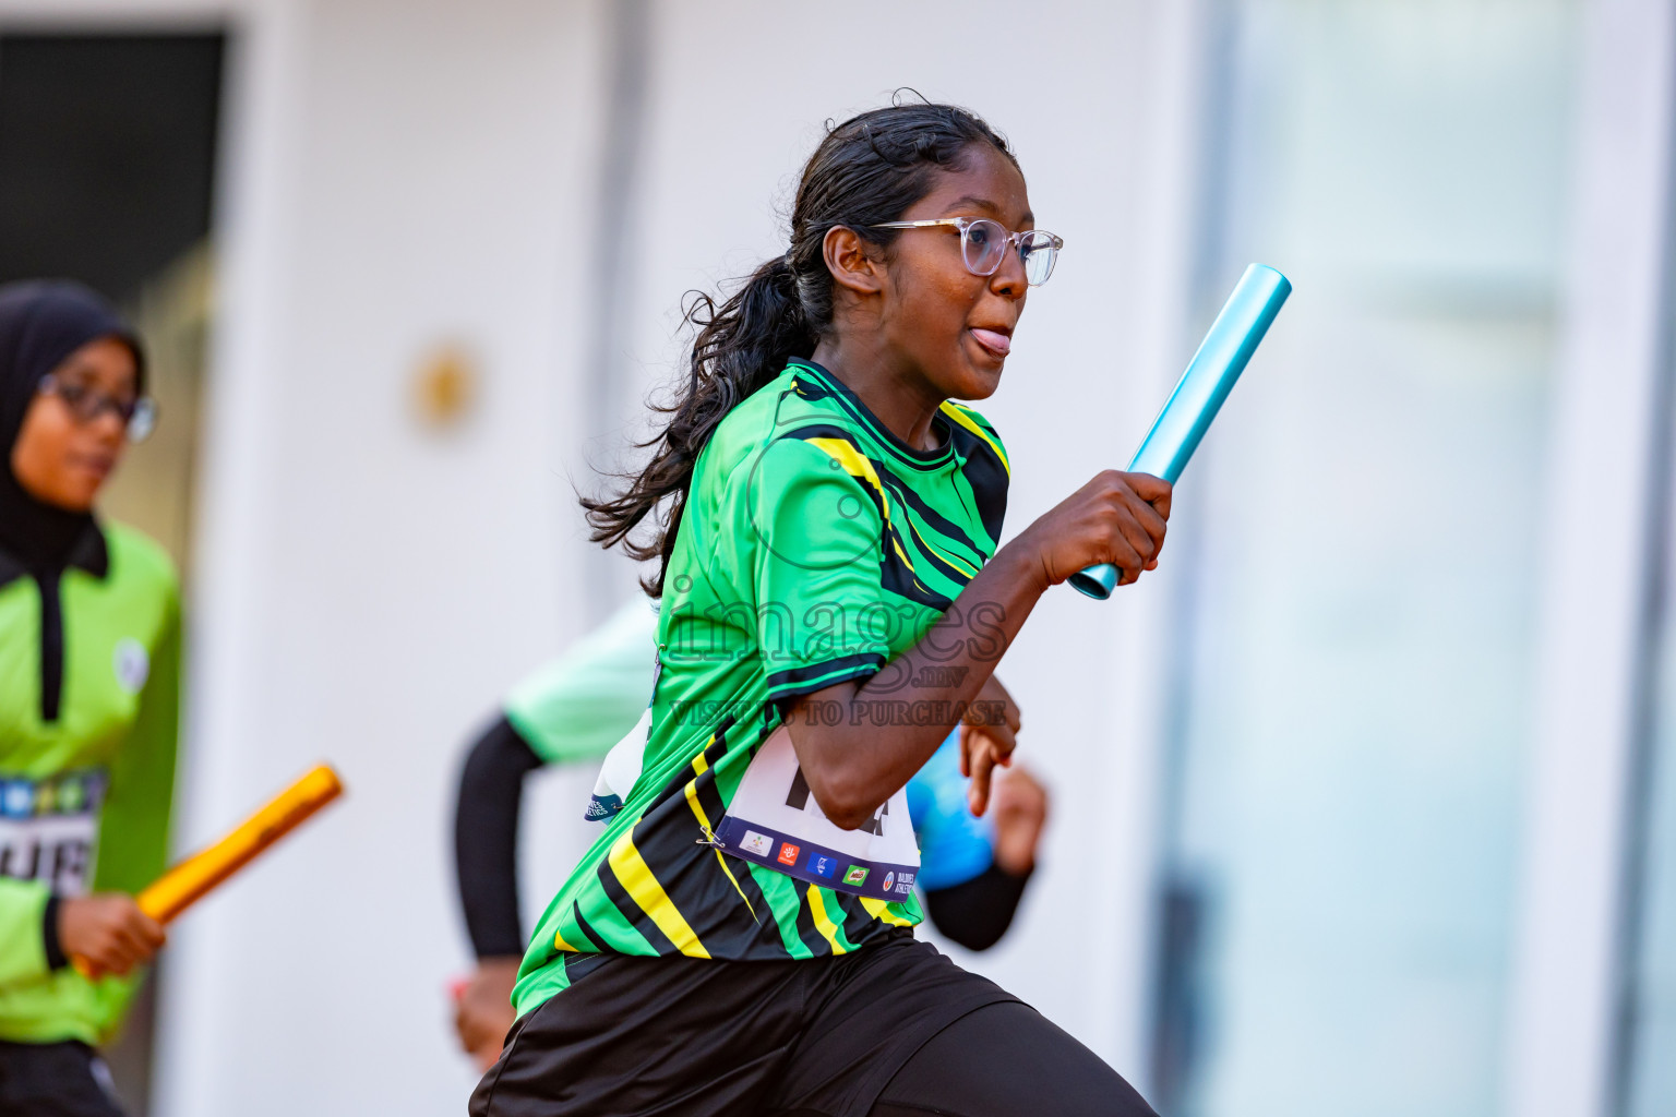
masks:
<path fill-rule="evenodd" d="M 454 871 L 478 958 L 525 953 L 518 928 L 518 814 L 523 777 L 541 767 L 511 722 L 496 718 L 466 755 L 454 807 Z"/>

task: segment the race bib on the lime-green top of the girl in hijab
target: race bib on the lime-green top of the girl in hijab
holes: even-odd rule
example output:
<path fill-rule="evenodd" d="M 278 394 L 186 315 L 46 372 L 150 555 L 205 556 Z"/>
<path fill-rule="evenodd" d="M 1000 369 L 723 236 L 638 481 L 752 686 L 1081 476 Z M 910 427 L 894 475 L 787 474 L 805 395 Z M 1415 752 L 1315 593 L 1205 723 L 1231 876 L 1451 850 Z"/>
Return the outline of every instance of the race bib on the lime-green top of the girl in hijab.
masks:
<path fill-rule="evenodd" d="M 57 896 L 85 896 L 104 792 L 99 769 L 44 780 L 0 777 L 0 876 L 40 881 Z"/>

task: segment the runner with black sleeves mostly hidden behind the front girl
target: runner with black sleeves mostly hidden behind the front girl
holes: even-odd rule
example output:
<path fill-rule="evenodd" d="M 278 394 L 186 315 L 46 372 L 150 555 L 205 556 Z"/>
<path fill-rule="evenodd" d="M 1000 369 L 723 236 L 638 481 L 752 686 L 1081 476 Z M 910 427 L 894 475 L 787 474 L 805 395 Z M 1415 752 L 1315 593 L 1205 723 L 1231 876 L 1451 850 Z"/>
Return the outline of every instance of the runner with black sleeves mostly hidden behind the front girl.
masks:
<path fill-rule="evenodd" d="M 454 814 L 454 862 L 478 966 L 458 993 L 454 1025 L 461 1047 L 483 1070 L 499 1057 L 513 1025 L 511 991 L 528 945 L 518 918 L 523 777 L 543 764 L 617 752 L 612 770 L 600 774 L 588 817 L 615 814 L 640 765 L 645 732 L 632 728 L 650 695 L 655 643 L 655 608 L 644 598 L 630 601 L 518 685 L 468 754 Z M 1017 728 L 1016 717 L 1011 727 Z M 613 779 L 623 785 L 613 790 Z M 908 814 L 920 841 L 917 883 L 932 923 L 967 950 L 994 946 L 1036 867 L 1048 794 L 1022 769 L 1011 772 L 992 790 L 994 826 L 985 826 L 972 814 L 959 734 L 950 734 L 908 780 Z"/>

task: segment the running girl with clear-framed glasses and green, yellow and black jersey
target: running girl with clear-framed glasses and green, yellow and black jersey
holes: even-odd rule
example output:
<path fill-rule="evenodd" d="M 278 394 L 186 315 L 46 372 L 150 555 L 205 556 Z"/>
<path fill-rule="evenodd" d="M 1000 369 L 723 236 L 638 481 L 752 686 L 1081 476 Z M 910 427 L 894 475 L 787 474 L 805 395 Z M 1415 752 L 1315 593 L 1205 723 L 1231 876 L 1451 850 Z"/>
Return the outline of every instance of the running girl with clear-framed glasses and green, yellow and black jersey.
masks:
<path fill-rule="evenodd" d="M 1042 593 L 1133 583 L 1165 538 L 1170 486 L 1108 471 L 999 544 L 1007 454 L 954 400 L 994 394 L 1059 246 L 987 124 L 895 106 L 816 147 L 783 256 L 689 305 L 649 464 L 585 502 L 659 563 L 644 769 L 535 931 L 473 1114 L 1151 1112 L 912 934 L 908 779 Z M 965 744 L 982 794 L 1012 735 Z"/>

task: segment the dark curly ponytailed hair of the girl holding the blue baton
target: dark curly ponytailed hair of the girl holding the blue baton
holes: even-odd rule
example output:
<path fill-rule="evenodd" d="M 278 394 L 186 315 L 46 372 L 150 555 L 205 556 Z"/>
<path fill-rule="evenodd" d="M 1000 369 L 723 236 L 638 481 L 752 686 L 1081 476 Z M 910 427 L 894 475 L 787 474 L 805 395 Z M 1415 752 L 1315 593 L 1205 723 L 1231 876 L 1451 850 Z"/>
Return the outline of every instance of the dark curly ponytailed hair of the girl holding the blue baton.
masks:
<path fill-rule="evenodd" d="M 694 327 L 685 383 L 654 410 L 669 415 L 664 429 L 642 442 L 652 457 L 627 487 L 603 499 L 582 499 L 592 539 L 622 544 L 635 559 L 660 559 L 642 586 L 664 591 L 664 571 L 675 546 L 680 514 L 699 452 L 729 410 L 773 380 L 791 357 L 808 357 L 831 328 L 833 276 L 823 241 L 833 226 L 888 248 L 898 229 L 873 224 L 898 221 L 932 191 L 939 169 L 959 169 L 970 144 L 1002 152 L 1017 166 L 1007 141 L 980 117 L 942 104 L 893 104 L 828 127 L 803 167 L 791 211 L 791 248 L 759 266 L 721 306 L 691 291 L 682 318 Z M 660 511 L 667 502 L 667 511 Z M 632 534 L 647 517 L 659 531 Z"/>

